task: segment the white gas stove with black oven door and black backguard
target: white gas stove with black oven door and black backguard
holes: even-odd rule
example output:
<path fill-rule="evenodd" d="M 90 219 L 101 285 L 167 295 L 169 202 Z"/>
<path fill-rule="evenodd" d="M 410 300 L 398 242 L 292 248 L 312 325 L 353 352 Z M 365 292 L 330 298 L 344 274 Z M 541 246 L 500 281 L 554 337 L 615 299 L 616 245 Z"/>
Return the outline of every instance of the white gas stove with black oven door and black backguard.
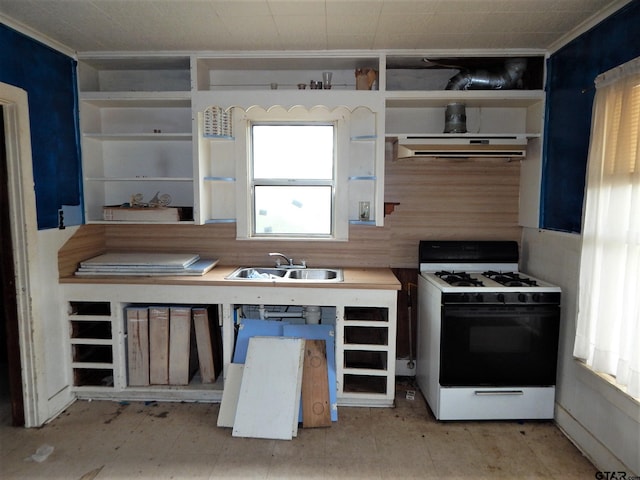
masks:
<path fill-rule="evenodd" d="M 511 241 L 422 241 L 416 380 L 439 420 L 553 418 L 560 288 Z"/>

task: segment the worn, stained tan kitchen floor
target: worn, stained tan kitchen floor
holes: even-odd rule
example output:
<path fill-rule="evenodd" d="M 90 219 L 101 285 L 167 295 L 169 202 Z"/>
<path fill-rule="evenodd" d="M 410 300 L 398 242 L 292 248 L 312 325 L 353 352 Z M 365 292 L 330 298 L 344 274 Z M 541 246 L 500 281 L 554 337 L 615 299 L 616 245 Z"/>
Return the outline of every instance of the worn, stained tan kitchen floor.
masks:
<path fill-rule="evenodd" d="M 77 401 L 38 429 L 0 426 L 9 479 L 563 479 L 596 468 L 552 422 L 436 422 L 400 381 L 396 408 L 339 409 L 291 441 L 234 438 L 217 404 Z M 31 459 L 43 445 L 54 450 Z"/>

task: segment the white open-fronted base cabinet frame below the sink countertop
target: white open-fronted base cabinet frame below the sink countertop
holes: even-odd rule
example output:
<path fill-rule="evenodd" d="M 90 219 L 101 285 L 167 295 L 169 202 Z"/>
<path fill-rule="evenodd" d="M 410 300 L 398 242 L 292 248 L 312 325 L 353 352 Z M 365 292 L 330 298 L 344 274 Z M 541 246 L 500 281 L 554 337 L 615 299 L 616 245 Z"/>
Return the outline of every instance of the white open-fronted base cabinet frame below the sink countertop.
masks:
<path fill-rule="evenodd" d="M 220 402 L 225 375 L 214 384 L 130 386 L 125 308 L 148 305 L 217 305 L 223 365 L 232 361 L 235 307 L 319 305 L 335 311 L 336 383 L 339 406 L 391 407 L 395 398 L 397 291 L 343 288 L 276 288 L 226 285 L 62 284 L 70 306 L 74 376 L 78 398 Z M 175 303 L 174 303 L 175 302 Z M 169 331 L 171 335 L 171 331 Z M 195 379 L 196 377 L 194 377 Z"/>

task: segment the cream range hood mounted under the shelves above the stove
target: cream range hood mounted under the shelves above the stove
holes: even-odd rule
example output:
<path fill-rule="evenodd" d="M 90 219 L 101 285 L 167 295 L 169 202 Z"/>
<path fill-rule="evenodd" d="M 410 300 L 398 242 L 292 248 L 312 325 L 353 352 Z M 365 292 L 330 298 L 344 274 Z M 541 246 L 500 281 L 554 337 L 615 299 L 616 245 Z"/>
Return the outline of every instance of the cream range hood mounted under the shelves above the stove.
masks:
<path fill-rule="evenodd" d="M 394 135 L 398 159 L 406 158 L 524 158 L 526 135 Z"/>

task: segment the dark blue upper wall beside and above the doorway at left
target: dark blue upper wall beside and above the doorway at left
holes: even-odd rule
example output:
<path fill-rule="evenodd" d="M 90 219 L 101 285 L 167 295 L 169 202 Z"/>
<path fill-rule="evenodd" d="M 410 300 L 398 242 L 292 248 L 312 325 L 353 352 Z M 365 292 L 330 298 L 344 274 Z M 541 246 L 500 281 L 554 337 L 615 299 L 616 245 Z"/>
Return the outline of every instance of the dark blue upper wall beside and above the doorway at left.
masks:
<path fill-rule="evenodd" d="M 0 82 L 29 96 L 38 229 L 56 228 L 82 202 L 76 62 L 0 24 Z"/>

